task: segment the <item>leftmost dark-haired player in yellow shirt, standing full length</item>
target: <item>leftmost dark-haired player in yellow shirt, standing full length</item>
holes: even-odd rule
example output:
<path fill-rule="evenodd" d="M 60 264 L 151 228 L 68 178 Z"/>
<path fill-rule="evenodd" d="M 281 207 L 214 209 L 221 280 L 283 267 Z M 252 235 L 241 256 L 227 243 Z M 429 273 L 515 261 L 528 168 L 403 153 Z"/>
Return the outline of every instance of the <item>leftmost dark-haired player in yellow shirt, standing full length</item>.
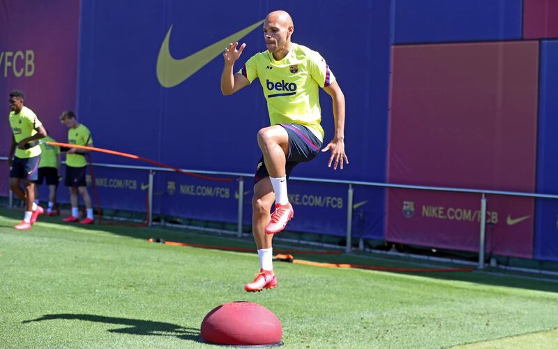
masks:
<path fill-rule="evenodd" d="M 37 217 L 43 214 L 43 207 L 35 200 L 35 185 L 37 168 L 40 161 L 40 147 L 38 140 L 47 135 L 36 114 L 25 107 L 25 95 L 22 91 L 10 92 L 10 126 L 13 132 L 12 145 L 8 154 L 10 166 L 10 189 L 25 203 L 23 221 L 15 225 L 17 230 L 31 229 Z M 21 187 L 23 181 L 24 188 Z"/>

